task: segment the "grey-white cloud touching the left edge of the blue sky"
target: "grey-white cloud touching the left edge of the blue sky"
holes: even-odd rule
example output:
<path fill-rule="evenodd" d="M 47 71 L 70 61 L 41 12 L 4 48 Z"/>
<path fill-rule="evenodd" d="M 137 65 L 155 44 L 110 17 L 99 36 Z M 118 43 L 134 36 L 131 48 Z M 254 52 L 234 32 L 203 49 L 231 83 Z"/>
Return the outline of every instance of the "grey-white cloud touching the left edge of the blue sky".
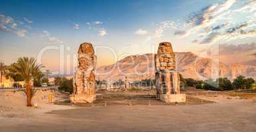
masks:
<path fill-rule="evenodd" d="M 22 22 L 0 14 L 0 31 L 11 32 L 17 36 L 26 36 L 27 30 L 24 27 L 20 27 Z"/>

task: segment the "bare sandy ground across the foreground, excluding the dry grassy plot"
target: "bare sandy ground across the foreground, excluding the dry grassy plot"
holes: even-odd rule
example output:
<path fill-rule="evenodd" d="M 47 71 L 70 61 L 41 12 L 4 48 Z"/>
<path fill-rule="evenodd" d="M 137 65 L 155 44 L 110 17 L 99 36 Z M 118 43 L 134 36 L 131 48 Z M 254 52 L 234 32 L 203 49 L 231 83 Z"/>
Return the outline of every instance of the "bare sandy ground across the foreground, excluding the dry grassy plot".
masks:
<path fill-rule="evenodd" d="M 38 93 L 40 96 L 37 98 L 43 98 L 44 93 Z M 61 94 L 57 95 L 58 92 L 55 94 L 56 100 L 63 98 Z M 15 98 L 20 100 L 18 95 Z M 0 96 L 3 96 L 3 93 Z M 3 106 L 7 109 L 0 114 L 0 130 L 7 132 L 256 131 L 256 103 L 252 100 L 240 100 L 229 96 L 197 97 L 217 103 L 192 106 L 78 107 L 50 106 L 43 103 L 45 101 L 37 100 L 41 108 L 28 109 L 21 106 L 21 109 L 18 109 L 20 107 L 9 106 L 8 109 L 7 106 Z M 6 96 L 5 100 L 7 100 Z M 15 115 L 11 116 L 8 112 Z"/>

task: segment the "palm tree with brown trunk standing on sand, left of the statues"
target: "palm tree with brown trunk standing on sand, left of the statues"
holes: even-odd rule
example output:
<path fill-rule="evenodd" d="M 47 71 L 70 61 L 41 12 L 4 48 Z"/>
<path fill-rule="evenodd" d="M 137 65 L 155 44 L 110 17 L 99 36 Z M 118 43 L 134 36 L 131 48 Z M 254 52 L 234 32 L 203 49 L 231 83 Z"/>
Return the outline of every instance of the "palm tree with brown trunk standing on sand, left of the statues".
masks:
<path fill-rule="evenodd" d="M 27 106 L 32 106 L 31 99 L 32 94 L 35 90 L 31 88 L 31 80 L 40 71 L 41 65 L 37 64 L 34 58 L 21 57 L 18 59 L 17 63 L 14 63 L 11 67 L 16 74 L 21 75 L 26 84 L 26 95 L 27 95 Z"/>

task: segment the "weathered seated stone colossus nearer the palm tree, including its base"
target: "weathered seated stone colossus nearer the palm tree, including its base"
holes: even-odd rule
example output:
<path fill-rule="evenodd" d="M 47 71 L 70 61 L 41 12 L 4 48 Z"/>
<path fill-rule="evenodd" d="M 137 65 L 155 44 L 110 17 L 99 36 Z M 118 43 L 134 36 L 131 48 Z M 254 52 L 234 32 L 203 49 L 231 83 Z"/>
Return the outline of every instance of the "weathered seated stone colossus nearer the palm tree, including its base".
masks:
<path fill-rule="evenodd" d="M 96 100 L 95 75 L 96 55 L 92 44 L 80 44 L 78 49 L 78 67 L 74 75 L 73 94 L 70 100 L 76 103 L 90 103 Z"/>

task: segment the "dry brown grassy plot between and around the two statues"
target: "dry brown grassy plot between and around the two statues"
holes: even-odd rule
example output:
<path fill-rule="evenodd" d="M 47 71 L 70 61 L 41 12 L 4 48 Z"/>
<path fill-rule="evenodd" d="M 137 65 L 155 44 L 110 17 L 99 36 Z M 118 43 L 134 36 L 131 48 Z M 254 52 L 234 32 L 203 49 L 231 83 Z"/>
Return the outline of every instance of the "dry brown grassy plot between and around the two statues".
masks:
<path fill-rule="evenodd" d="M 96 101 L 93 104 L 76 104 L 77 106 L 186 106 L 197 104 L 214 103 L 209 100 L 187 96 L 187 102 L 184 103 L 165 103 L 156 99 L 154 90 L 120 90 L 108 91 L 100 90 L 97 92 Z"/>

